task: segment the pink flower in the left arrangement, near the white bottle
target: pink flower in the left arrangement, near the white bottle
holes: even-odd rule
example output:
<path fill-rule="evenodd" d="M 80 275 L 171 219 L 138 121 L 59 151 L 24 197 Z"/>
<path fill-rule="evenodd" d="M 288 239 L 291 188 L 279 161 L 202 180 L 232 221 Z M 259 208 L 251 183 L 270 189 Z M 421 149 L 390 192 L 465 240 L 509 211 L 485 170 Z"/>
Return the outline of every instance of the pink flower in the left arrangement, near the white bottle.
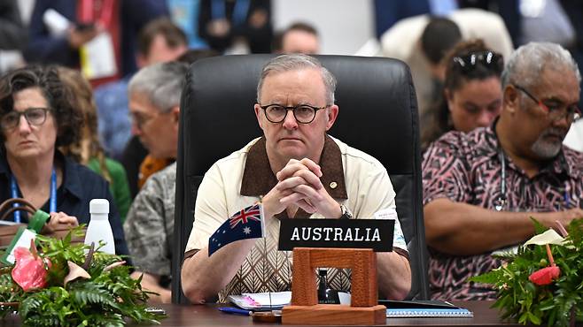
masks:
<path fill-rule="evenodd" d="M 12 269 L 12 279 L 22 287 L 24 292 L 43 288 L 47 284 L 47 270 L 43 258 L 36 253 L 31 253 L 26 247 L 14 249 L 14 258 L 16 264 Z M 51 265 L 48 261 L 47 264 Z"/>

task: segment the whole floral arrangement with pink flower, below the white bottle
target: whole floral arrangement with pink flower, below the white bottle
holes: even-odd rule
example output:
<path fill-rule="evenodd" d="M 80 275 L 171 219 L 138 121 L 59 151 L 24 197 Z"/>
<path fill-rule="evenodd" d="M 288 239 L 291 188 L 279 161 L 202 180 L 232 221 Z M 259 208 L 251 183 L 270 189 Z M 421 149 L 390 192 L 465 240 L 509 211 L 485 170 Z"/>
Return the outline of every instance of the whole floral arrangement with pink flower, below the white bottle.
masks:
<path fill-rule="evenodd" d="M 159 323 L 146 310 L 141 279 L 129 277 L 120 256 L 71 241 L 82 234 L 77 227 L 63 239 L 38 235 L 30 248 L 14 250 L 15 264 L 0 270 L 0 317 L 17 304 L 22 323 L 32 326 Z"/>

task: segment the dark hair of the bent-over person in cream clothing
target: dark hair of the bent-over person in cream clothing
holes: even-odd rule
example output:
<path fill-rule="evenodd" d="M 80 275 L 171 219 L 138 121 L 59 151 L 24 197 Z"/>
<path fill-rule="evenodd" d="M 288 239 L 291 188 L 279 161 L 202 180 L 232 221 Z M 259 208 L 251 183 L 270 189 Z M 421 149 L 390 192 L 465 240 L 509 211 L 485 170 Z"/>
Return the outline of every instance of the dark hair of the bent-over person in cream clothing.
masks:
<path fill-rule="evenodd" d="M 462 32 L 454 21 L 432 17 L 421 34 L 421 49 L 431 64 L 438 65 L 447 51 L 462 40 Z"/>

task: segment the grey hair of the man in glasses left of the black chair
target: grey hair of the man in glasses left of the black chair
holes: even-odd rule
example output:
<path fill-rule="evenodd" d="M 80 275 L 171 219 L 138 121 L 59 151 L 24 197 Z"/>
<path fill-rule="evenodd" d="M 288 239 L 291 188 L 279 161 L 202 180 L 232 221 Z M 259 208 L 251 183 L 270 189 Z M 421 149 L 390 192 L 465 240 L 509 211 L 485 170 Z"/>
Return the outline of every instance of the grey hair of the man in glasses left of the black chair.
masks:
<path fill-rule="evenodd" d="M 129 80 L 128 92 L 143 94 L 160 112 L 168 111 L 180 105 L 188 68 L 176 61 L 144 67 Z"/>

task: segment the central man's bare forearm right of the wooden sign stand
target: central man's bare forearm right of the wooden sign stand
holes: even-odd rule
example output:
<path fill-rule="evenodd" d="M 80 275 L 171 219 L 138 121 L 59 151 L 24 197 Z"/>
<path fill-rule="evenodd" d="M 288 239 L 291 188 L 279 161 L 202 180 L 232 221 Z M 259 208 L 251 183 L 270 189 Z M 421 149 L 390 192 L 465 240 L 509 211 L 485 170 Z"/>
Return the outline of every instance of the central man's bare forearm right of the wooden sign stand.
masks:
<path fill-rule="evenodd" d="M 377 254 L 378 290 L 387 299 L 403 300 L 411 289 L 411 267 L 396 252 Z"/>

